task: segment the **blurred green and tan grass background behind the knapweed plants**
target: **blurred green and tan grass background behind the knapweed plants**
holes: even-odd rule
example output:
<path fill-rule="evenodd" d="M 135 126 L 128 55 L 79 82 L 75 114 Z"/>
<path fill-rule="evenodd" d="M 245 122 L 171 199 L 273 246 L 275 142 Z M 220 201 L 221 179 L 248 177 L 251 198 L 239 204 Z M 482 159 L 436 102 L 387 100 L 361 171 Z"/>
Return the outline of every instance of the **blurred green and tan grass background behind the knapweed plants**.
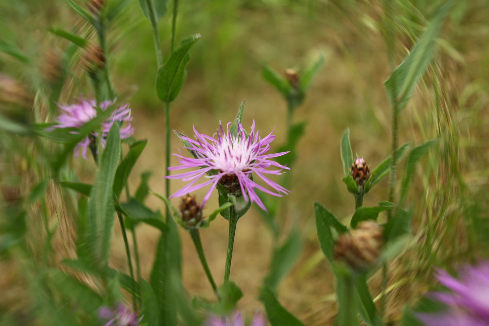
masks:
<path fill-rule="evenodd" d="M 430 14 L 441 1 L 398 0 L 393 20 L 396 36 L 396 64 L 407 53 L 422 31 Z M 307 239 L 301 265 L 314 257 L 317 240 L 311 202 L 323 202 L 338 217 L 348 219 L 354 198 L 340 180 L 339 139 L 346 127 L 351 130 L 353 151 L 375 167 L 390 149 L 390 108 L 383 89 L 388 76 L 388 57 L 380 20 L 382 2 L 327 0 L 185 0 L 178 17 L 178 40 L 200 33 L 201 41 L 191 53 L 188 78 L 181 95 L 172 105 L 172 128 L 187 134 L 191 126 L 212 133 L 219 120 L 230 121 L 246 99 L 244 126 L 252 119 L 262 133 L 277 125 L 278 147 L 285 141 L 286 104 L 275 90 L 262 80 L 261 69 L 268 63 L 278 71 L 307 64 L 308 56 L 324 52 L 325 66 L 313 82 L 294 121 L 307 120 L 306 135 L 300 141 L 298 160 L 291 173 L 288 216 L 280 217 L 286 228 L 298 221 Z M 47 49 L 66 46 L 47 28 L 56 26 L 89 31 L 61 0 L 0 1 L 0 41 L 17 44 L 32 58 L 26 69 L 15 59 L 0 54 L 1 73 L 16 77 L 37 89 L 41 84 L 39 66 Z M 414 202 L 414 240 L 409 250 L 391 268 L 390 284 L 412 280 L 394 289 L 389 307 L 392 320 L 406 303 L 414 304 L 431 280 L 432 265 L 448 267 L 475 257 L 486 257 L 487 249 L 479 241 L 477 223 L 487 217 L 488 196 L 488 91 L 489 91 L 489 2 L 456 1 L 441 35 L 441 45 L 432 69 L 419 84 L 413 100 L 401 113 L 400 143 L 422 141 L 440 136 L 441 146 L 417 169 L 409 200 Z M 168 53 L 170 20 L 160 24 L 164 56 Z M 149 138 L 148 146 L 135 167 L 130 187 L 138 183 L 138 174 L 153 170 L 150 185 L 163 192 L 164 121 L 162 105 L 154 91 L 156 58 L 150 24 L 144 19 L 137 1 L 114 23 L 109 34 L 114 84 L 124 99 L 130 99 L 136 128 L 135 136 Z M 89 92 L 83 71 L 75 65 L 74 75 L 65 86 L 64 101 L 72 101 L 80 92 Z M 436 86 L 434 86 L 436 85 Z M 434 87 L 438 91 L 436 94 Z M 172 140 L 172 152 L 181 145 Z M 276 148 L 274 147 L 274 148 Z M 5 162 L 10 162 L 2 152 Z M 95 169 L 90 161 L 75 160 L 83 181 L 91 181 Z M 176 161 L 172 161 L 172 165 Z M 3 168 L 2 168 L 3 169 Z M 29 170 L 30 169 L 30 170 Z M 35 174 L 32 166 L 16 172 L 24 177 Z M 30 171 L 30 172 L 29 172 Z M 399 175 L 402 172 L 399 169 Z M 30 173 L 30 174 L 29 174 Z M 2 179 L 6 170 L 1 171 Z M 31 177 L 31 176 L 29 176 Z M 35 181 L 27 183 L 33 184 Z M 172 190 L 181 186 L 174 182 Z M 25 190 L 27 185 L 23 187 Z M 374 188 L 364 201 L 376 205 L 387 198 L 387 180 Z M 202 198 L 203 193 L 198 192 Z M 210 199 L 208 209 L 217 205 Z M 51 196 L 51 217 L 66 222 L 67 229 L 57 234 L 57 257 L 70 253 L 63 242 L 70 233 L 68 216 L 59 207 L 60 196 Z M 160 207 L 152 199 L 150 205 Z M 32 218 L 39 216 L 36 210 Z M 482 219 L 481 219 L 482 217 Z M 210 268 L 217 280 L 227 241 L 226 221 L 218 218 L 202 241 Z M 35 228 L 34 228 L 35 229 Z M 117 227 L 116 227 L 117 229 Z M 72 232 L 72 229 L 71 229 Z M 119 231 L 117 231 L 119 232 Z M 143 236 L 144 235 L 144 236 Z M 211 297 L 212 290 L 190 238 L 182 232 L 184 283 L 190 293 Z M 143 276 L 153 263 L 157 232 L 149 227 L 138 229 Z M 485 235 L 487 237 L 487 235 Z M 125 270 L 126 260 L 120 233 L 112 246 L 111 264 Z M 260 254 L 260 259 L 256 258 Z M 261 279 L 267 273 L 271 254 L 271 235 L 256 211 L 240 220 L 235 242 L 232 278 L 244 290 L 239 308 L 251 312 L 261 309 L 256 300 Z M 59 261 L 60 258 L 56 259 Z M 1 262 L 2 270 L 12 268 Z M 334 301 L 332 276 L 325 261 L 316 261 L 310 271 L 292 271 L 280 290 L 280 301 L 306 325 L 324 325 L 332 321 Z M 12 279 L 15 279 L 12 273 Z M 379 292 L 374 278 L 373 294 Z M 10 287 L 9 283 L 4 284 Z M 10 287 L 10 293 L 17 288 Z M 376 292 L 377 291 L 377 292 Z M 8 310 L 9 301 L 1 309 Z"/>

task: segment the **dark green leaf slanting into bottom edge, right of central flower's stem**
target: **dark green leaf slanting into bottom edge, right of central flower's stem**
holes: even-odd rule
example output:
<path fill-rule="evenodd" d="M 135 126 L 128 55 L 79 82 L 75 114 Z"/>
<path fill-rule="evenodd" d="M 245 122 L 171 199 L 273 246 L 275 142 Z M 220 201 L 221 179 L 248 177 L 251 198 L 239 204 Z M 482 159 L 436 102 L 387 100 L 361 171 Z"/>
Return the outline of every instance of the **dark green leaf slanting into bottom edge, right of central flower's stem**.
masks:
<path fill-rule="evenodd" d="M 265 305 L 268 321 L 272 326 L 304 326 L 300 320 L 294 317 L 277 301 L 277 298 L 275 298 L 275 295 L 269 287 L 262 287 L 260 300 Z"/>

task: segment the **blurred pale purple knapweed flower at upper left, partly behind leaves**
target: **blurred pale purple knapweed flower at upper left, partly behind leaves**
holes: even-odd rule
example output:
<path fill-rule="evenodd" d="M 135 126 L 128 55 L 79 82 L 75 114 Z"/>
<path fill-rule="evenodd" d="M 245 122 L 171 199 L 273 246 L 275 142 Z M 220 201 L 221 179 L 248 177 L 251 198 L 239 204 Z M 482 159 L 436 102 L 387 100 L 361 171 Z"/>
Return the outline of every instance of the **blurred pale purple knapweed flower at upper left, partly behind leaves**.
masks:
<path fill-rule="evenodd" d="M 102 110 L 106 110 L 114 103 L 115 103 L 115 99 L 113 101 L 105 101 L 100 103 L 99 107 Z M 77 104 L 72 104 L 69 106 L 58 105 L 60 109 L 63 110 L 63 113 L 58 115 L 58 119 L 57 119 L 58 124 L 54 125 L 53 127 L 54 128 L 82 127 L 85 123 L 89 122 L 90 120 L 92 120 L 97 116 L 97 110 L 95 109 L 96 105 L 97 103 L 95 100 L 86 100 L 84 98 L 81 98 L 79 103 Z M 131 120 L 133 120 L 133 117 L 131 116 L 131 109 L 129 108 L 129 104 L 123 105 L 122 107 L 115 109 L 112 112 L 111 116 L 101 123 L 102 146 L 105 147 L 106 137 L 109 134 L 109 131 L 111 130 L 111 127 L 115 121 L 131 121 Z M 131 127 L 131 124 L 122 128 L 120 130 L 121 139 L 128 138 L 133 134 L 133 132 L 134 132 L 134 128 Z M 98 134 L 97 132 L 93 131 L 91 132 L 91 136 L 98 137 Z M 79 155 L 78 150 L 81 148 L 82 157 L 84 159 L 87 159 L 87 148 L 90 145 L 90 141 L 91 141 L 90 138 L 93 139 L 93 137 L 87 136 L 80 143 L 78 143 L 78 145 L 76 145 L 74 151 L 75 156 L 78 157 Z"/>

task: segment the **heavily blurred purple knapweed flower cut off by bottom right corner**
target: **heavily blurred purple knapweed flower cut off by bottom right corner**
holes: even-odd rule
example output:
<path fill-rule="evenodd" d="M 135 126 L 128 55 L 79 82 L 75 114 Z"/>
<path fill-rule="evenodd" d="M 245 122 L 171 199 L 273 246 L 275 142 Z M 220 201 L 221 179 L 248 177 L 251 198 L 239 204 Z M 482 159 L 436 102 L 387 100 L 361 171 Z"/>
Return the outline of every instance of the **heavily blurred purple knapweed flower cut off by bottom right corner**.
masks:
<path fill-rule="evenodd" d="M 452 292 L 429 293 L 428 297 L 447 304 L 439 313 L 418 313 L 416 316 L 427 326 L 489 326 L 489 262 L 466 266 L 460 280 L 439 269 L 438 281 Z"/>

